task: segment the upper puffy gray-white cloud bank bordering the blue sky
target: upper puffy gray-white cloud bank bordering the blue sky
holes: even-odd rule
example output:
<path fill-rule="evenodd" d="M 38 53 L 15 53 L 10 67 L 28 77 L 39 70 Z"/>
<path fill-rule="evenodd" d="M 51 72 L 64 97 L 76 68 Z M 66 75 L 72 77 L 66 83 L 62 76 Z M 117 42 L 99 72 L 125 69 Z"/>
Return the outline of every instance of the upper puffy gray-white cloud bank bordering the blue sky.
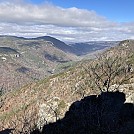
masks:
<path fill-rule="evenodd" d="M 25 3 L 0 3 L 2 22 L 17 24 L 53 24 L 59 26 L 99 26 L 113 25 L 94 11 L 85 9 L 61 8 L 49 4 L 31 5 Z"/>

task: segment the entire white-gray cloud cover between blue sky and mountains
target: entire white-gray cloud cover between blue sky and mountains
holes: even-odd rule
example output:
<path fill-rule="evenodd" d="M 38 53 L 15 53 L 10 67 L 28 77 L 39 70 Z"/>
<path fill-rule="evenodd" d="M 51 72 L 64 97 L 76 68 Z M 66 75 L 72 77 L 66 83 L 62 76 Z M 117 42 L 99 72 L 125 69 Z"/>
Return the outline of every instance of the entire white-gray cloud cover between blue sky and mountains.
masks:
<path fill-rule="evenodd" d="M 34 5 L 23 0 L 0 2 L 0 34 L 37 37 L 52 35 L 65 41 L 133 38 L 134 23 L 117 23 L 86 9 Z"/>

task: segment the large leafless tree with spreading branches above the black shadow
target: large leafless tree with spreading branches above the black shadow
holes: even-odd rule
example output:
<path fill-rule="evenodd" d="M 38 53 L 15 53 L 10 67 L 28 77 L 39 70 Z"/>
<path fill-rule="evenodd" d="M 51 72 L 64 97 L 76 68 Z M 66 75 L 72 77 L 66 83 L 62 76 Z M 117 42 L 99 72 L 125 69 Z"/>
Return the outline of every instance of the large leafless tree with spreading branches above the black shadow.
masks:
<path fill-rule="evenodd" d="M 127 62 L 128 56 L 121 54 L 110 56 L 107 53 L 100 55 L 88 66 L 84 67 L 89 74 L 89 85 L 92 89 L 109 92 L 110 86 L 116 84 L 117 90 L 121 84 L 128 81 L 131 75 L 131 66 Z"/>

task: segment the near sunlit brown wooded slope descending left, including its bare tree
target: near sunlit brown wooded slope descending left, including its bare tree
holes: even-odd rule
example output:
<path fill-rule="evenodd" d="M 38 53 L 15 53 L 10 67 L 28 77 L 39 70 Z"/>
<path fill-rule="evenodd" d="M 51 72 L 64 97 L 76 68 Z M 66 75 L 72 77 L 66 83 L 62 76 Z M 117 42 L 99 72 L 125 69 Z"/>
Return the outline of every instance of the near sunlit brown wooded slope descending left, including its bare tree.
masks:
<path fill-rule="evenodd" d="M 35 124 L 42 128 L 62 118 L 74 101 L 101 92 L 119 90 L 126 94 L 126 102 L 133 102 L 133 52 L 133 41 L 122 41 L 96 59 L 81 61 L 68 71 L 2 95 L 1 129 L 22 131 L 25 121 L 31 124 L 30 128 Z"/>

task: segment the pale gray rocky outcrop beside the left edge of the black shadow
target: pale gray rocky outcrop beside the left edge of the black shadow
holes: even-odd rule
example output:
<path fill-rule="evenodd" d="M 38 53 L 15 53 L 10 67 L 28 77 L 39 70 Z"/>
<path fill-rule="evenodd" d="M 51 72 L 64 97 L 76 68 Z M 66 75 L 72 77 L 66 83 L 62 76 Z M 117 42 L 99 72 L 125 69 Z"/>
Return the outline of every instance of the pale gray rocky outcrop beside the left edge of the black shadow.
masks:
<path fill-rule="evenodd" d="M 38 128 L 42 129 L 44 124 L 55 122 L 63 117 L 63 111 L 66 111 L 68 105 L 59 97 L 53 97 L 46 103 L 39 105 Z M 62 111 L 63 110 L 63 111 Z"/>

